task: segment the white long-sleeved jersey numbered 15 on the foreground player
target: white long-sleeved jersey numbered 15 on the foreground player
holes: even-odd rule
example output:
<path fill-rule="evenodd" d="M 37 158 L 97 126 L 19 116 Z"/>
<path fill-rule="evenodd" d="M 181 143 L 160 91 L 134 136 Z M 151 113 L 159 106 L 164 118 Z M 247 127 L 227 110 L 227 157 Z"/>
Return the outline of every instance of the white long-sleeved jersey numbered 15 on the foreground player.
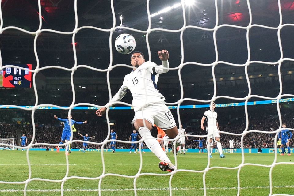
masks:
<path fill-rule="evenodd" d="M 168 62 L 163 62 L 162 64 L 168 64 Z M 160 72 L 159 66 L 154 62 L 147 61 L 140 65 L 136 70 L 132 70 L 130 74 L 124 77 L 123 85 L 120 90 L 113 96 L 111 101 L 119 101 L 126 94 L 129 89 L 133 96 L 133 108 L 137 112 L 142 108 L 144 104 L 151 104 L 156 102 L 165 101 L 164 96 L 158 91 L 157 81 L 158 76 L 155 72 Z M 161 73 L 164 73 L 161 71 Z"/>

